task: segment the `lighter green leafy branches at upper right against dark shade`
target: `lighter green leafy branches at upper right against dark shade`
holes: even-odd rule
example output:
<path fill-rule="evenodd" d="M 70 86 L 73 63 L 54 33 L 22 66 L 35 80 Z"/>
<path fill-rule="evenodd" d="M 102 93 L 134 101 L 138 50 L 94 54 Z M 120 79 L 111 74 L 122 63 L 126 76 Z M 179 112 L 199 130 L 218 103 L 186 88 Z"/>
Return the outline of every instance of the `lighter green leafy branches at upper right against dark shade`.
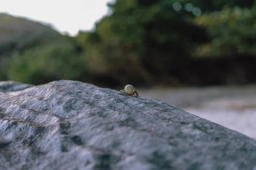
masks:
<path fill-rule="evenodd" d="M 207 28 L 211 42 L 198 47 L 198 57 L 236 56 L 256 54 L 256 6 L 230 8 L 205 13 L 195 18 L 198 26 Z"/>

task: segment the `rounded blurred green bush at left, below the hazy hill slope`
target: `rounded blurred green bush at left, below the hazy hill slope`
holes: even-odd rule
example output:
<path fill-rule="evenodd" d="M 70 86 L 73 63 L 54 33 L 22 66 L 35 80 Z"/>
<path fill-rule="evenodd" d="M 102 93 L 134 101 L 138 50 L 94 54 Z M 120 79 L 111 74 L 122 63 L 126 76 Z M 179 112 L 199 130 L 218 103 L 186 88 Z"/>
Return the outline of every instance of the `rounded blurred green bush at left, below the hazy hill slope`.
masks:
<path fill-rule="evenodd" d="M 8 79 L 42 84 L 57 79 L 79 79 L 84 62 L 70 42 L 52 43 L 14 54 Z"/>

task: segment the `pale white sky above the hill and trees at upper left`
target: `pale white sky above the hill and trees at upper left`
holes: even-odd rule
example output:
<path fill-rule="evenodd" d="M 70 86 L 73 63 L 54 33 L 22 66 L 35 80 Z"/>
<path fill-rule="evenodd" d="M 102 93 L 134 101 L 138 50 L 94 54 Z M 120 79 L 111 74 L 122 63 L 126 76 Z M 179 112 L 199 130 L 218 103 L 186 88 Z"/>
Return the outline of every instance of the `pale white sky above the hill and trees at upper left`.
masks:
<path fill-rule="evenodd" d="M 0 12 L 51 23 L 60 32 L 75 35 L 90 30 L 107 14 L 114 0 L 0 0 Z"/>

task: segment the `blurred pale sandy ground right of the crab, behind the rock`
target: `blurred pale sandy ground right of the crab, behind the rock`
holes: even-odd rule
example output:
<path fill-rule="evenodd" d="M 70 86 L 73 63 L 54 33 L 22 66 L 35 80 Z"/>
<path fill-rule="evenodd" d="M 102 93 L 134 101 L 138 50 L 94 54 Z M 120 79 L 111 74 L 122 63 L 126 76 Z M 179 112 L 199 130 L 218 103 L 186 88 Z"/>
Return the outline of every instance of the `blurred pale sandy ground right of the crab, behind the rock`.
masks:
<path fill-rule="evenodd" d="M 256 85 L 140 90 L 184 111 L 256 139 Z"/>

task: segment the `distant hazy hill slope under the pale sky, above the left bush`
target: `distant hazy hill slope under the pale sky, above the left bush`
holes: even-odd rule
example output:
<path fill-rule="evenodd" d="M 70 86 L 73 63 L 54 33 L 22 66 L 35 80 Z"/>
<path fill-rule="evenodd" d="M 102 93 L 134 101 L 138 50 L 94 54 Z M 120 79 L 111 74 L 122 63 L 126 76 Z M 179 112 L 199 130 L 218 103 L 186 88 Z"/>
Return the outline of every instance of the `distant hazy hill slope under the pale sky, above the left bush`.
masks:
<path fill-rule="evenodd" d="M 49 26 L 0 13 L 0 58 L 15 51 L 64 39 L 65 36 Z"/>

